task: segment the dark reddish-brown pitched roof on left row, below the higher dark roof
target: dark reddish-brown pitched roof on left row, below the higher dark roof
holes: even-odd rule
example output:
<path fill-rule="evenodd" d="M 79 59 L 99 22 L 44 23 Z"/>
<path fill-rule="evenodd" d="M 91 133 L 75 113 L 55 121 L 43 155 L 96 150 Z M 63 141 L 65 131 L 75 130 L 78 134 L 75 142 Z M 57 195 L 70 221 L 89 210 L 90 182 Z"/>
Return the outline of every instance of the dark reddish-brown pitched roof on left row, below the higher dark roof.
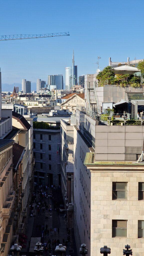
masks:
<path fill-rule="evenodd" d="M 15 169 L 20 162 L 23 154 L 25 152 L 25 148 L 21 145 L 14 143 L 13 144 L 13 168 Z"/>

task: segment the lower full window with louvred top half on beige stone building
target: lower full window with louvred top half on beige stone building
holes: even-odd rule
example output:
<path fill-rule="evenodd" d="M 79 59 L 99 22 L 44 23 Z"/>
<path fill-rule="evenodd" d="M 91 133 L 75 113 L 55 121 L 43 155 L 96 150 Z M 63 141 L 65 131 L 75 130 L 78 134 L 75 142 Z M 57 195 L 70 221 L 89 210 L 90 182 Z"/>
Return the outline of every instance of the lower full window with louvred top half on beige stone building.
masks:
<path fill-rule="evenodd" d="M 127 237 L 127 220 L 112 220 L 112 237 Z"/>

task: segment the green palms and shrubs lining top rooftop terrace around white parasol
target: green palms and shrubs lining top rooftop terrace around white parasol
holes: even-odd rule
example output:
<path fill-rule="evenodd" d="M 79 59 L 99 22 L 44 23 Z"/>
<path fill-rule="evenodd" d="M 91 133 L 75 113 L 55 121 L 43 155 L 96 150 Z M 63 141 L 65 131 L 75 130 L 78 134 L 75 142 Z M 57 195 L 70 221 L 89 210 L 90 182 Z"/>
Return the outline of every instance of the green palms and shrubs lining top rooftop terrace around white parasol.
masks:
<path fill-rule="evenodd" d="M 144 60 L 138 63 L 137 68 L 141 70 L 141 74 L 144 76 Z M 134 74 L 115 74 L 113 68 L 110 66 L 100 71 L 96 78 L 99 82 L 108 80 L 108 84 L 116 84 L 121 87 L 126 87 L 127 85 L 134 88 L 141 87 L 140 77 Z"/>

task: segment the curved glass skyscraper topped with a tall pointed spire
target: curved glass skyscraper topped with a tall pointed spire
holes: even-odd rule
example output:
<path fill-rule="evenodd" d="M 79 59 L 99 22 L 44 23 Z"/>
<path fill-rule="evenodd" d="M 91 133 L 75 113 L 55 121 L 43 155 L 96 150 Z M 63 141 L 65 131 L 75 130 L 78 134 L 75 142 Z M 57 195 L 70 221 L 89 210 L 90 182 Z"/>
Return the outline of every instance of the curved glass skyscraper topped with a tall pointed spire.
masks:
<path fill-rule="evenodd" d="M 72 67 L 65 68 L 65 89 L 70 90 L 72 86 L 77 84 L 77 66 L 74 65 L 74 50 L 72 58 Z"/>

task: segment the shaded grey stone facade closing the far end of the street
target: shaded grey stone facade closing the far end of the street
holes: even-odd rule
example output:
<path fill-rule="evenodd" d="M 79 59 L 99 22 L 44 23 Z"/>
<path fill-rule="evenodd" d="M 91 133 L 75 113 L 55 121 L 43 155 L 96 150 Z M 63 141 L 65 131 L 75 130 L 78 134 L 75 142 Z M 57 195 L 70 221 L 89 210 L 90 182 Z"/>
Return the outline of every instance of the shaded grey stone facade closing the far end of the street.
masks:
<path fill-rule="evenodd" d="M 55 185 L 60 181 L 60 129 L 34 129 L 35 182 Z"/>

